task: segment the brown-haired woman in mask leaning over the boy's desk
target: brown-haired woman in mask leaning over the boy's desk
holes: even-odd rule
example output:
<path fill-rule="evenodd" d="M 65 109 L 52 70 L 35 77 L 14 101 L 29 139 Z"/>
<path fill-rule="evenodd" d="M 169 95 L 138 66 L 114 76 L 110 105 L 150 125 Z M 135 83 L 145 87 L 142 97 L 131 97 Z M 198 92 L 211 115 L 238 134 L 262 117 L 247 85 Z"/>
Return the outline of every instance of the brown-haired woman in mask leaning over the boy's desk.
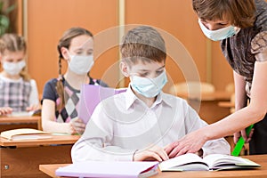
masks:
<path fill-rule="evenodd" d="M 170 146 L 171 155 L 198 150 L 207 140 L 234 134 L 250 154 L 267 154 L 267 3 L 265 0 L 192 0 L 204 35 L 221 41 L 233 69 L 236 112 Z M 249 104 L 247 105 L 247 101 Z M 247 136 L 245 128 L 254 125 Z M 243 129 L 243 130 L 242 130 Z M 239 132 L 240 131 L 240 132 Z"/>

